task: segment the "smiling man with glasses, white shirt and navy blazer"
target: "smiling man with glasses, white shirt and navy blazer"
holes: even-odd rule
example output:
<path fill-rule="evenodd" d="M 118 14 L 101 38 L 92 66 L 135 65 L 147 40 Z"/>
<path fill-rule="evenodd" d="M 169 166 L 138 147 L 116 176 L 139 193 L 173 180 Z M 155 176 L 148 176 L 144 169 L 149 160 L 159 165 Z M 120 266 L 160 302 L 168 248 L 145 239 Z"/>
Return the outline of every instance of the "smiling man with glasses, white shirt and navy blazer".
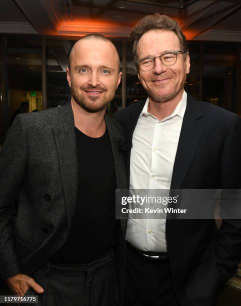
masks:
<path fill-rule="evenodd" d="M 148 98 L 115 114 L 127 141 L 130 189 L 240 188 L 240 118 L 184 91 L 184 34 L 166 15 L 133 28 Z M 241 258 L 240 220 L 128 219 L 125 306 L 212 306 Z"/>

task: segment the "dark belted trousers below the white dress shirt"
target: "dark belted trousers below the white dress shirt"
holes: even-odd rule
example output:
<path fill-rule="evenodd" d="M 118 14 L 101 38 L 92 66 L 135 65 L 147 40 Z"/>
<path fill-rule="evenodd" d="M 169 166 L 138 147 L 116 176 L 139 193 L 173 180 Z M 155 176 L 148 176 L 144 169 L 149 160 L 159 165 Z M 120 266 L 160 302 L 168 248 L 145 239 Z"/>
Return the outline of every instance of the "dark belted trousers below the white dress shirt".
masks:
<path fill-rule="evenodd" d="M 180 306 L 169 259 L 149 259 L 127 246 L 124 306 Z"/>

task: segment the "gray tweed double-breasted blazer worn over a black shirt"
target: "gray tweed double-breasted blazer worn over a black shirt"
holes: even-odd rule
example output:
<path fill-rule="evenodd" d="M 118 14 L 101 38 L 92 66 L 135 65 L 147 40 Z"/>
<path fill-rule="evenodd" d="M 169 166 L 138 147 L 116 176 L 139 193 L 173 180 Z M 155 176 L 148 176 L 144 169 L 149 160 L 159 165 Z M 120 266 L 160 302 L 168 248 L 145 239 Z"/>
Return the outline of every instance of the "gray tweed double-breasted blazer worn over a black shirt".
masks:
<path fill-rule="evenodd" d="M 127 188 L 122 127 L 105 116 L 116 188 Z M 70 103 L 20 114 L 0 151 L 0 278 L 30 274 L 68 236 L 77 193 L 77 156 Z M 13 217 L 14 205 L 17 213 Z M 125 222 L 120 220 L 124 239 Z M 122 243 L 122 245 L 124 245 Z"/>

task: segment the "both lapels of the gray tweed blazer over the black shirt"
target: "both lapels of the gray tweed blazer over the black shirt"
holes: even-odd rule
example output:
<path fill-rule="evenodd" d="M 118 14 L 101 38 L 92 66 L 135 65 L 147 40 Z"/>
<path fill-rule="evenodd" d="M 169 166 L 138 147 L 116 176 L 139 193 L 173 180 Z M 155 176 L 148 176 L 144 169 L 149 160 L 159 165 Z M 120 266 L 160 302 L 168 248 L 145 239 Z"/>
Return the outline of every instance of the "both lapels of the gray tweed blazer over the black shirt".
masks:
<path fill-rule="evenodd" d="M 118 147 L 118 141 L 122 135 L 107 116 L 105 116 L 105 122 L 114 158 L 116 188 L 128 188 L 124 171 L 124 156 Z M 70 103 L 59 108 L 59 115 L 53 121 L 53 134 L 59 158 L 68 228 L 70 228 L 76 204 L 78 179 L 74 120 Z M 126 220 L 120 220 L 120 225 L 124 234 Z"/>

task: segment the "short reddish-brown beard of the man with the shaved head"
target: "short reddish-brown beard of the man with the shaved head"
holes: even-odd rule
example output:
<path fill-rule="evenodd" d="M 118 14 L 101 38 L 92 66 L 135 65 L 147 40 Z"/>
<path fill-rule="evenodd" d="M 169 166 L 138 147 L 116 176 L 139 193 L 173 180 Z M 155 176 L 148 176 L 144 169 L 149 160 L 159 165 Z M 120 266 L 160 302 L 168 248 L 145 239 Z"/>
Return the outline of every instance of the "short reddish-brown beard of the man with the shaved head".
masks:
<path fill-rule="evenodd" d="M 101 90 L 103 93 L 101 95 L 103 96 L 84 96 L 84 93 L 81 93 L 81 91 L 84 90 L 93 90 L 98 89 Z M 104 87 L 92 87 L 92 86 L 86 86 L 81 87 L 80 91 L 76 87 L 71 87 L 71 95 L 74 101 L 84 110 L 87 112 L 99 112 L 106 108 L 108 103 L 113 99 L 115 94 L 115 90 L 107 91 Z"/>

